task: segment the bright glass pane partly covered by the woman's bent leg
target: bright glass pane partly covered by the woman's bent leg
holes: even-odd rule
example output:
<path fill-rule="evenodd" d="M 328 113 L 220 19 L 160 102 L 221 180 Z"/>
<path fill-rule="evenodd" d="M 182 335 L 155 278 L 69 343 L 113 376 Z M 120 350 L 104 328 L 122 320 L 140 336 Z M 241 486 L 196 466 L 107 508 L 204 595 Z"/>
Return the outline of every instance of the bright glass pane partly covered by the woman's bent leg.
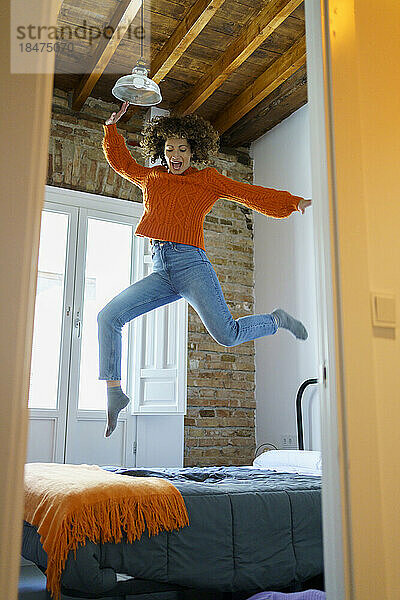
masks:
<path fill-rule="evenodd" d="M 133 228 L 131 225 L 88 219 L 79 409 L 105 410 L 107 390 L 99 380 L 97 315 L 114 296 L 130 285 Z M 126 391 L 128 324 L 122 328 L 121 386 Z"/>

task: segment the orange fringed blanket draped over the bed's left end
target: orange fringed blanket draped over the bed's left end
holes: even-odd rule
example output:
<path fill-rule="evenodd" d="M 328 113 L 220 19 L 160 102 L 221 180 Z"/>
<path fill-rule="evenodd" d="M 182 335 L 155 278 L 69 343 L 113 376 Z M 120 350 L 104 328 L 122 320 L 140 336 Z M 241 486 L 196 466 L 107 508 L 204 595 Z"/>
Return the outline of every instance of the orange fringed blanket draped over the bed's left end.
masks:
<path fill-rule="evenodd" d="M 47 588 L 57 600 L 68 552 L 93 542 L 133 542 L 189 524 L 183 498 L 169 481 L 128 477 L 97 465 L 25 465 L 24 519 L 47 553 Z"/>

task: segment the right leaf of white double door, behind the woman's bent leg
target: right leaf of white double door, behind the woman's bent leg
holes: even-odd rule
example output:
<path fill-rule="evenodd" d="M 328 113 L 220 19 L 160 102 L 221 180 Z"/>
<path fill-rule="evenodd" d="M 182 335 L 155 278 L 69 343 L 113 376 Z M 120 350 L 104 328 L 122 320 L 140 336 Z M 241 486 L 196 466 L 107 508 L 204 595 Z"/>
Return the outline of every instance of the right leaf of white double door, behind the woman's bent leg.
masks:
<path fill-rule="evenodd" d="M 104 438 L 107 391 L 98 379 L 97 315 L 119 292 L 133 282 L 132 218 L 81 208 L 73 302 L 72 345 L 66 424 L 65 462 L 134 464 L 134 427 L 124 410 L 112 436 Z M 127 377 L 131 324 L 122 328 L 121 386 L 131 395 Z M 128 347 L 129 346 L 129 347 Z"/>

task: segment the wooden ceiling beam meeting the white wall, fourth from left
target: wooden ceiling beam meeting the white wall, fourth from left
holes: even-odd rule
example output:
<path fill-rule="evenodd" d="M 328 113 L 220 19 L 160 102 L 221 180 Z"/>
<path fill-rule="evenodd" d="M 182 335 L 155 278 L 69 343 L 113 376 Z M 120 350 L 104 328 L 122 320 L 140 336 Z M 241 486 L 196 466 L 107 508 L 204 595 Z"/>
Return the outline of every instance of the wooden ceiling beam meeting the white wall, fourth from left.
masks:
<path fill-rule="evenodd" d="M 212 121 L 213 127 L 220 134 L 227 131 L 305 63 L 306 38 L 303 35 L 217 115 Z"/>

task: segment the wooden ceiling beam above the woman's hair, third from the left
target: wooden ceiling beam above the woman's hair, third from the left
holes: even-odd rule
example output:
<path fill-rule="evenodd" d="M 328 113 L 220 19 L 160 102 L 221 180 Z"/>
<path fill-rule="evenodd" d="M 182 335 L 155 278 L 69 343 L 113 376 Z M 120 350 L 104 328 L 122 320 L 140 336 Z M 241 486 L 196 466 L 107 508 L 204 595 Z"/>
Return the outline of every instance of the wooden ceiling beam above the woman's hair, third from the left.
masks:
<path fill-rule="evenodd" d="M 243 28 L 243 33 L 229 45 L 193 89 L 174 106 L 180 115 L 193 113 L 228 77 L 292 14 L 303 0 L 275 0 Z"/>

